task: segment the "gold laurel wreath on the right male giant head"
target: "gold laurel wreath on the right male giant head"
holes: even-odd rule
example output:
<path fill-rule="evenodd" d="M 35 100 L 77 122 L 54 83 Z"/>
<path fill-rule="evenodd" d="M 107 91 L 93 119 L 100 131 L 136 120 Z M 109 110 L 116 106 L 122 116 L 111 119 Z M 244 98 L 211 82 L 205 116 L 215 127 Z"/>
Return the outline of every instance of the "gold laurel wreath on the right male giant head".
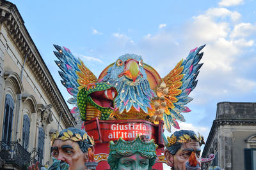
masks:
<path fill-rule="evenodd" d="M 199 142 L 199 145 L 203 145 L 205 144 L 204 142 L 204 136 L 200 135 L 200 133 L 198 133 L 198 136 L 194 135 L 196 141 Z M 175 143 L 188 143 L 191 142 L 191 138 L 188 134 L 184 134 L 183 136 L 179 137 L 179 140 L 177 140 L 177 136 L 175 136 L 174 134 L 171 136 L 171 138 L 168 136 L 167 137 L 168 143 L 166 143 L 167 147 L 170 147 L 171 145 L 174 145 Z"/>

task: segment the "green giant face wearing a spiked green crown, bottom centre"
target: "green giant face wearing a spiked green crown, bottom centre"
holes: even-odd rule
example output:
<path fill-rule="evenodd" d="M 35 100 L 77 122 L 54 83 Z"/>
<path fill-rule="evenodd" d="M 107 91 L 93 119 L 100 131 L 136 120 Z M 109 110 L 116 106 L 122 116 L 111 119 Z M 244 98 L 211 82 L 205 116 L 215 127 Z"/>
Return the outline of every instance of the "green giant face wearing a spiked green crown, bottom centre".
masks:
<path fill-rule="evenodd" d="M 139 136 L 133 141 L 120 138 L 110 142 L 108 164 L 112 170 L 149 170 L 156 162 L 154 139 L 142 140 Z"/>

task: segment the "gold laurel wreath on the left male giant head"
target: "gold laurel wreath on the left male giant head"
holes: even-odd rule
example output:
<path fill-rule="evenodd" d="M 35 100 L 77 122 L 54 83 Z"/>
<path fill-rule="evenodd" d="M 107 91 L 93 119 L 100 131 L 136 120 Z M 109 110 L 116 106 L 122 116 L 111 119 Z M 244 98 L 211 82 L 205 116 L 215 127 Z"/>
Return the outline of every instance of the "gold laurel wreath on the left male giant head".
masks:
<path fill-rule="evenodd" d="M 84 133 L 83 138 L 80 134 L 73 134 L 70 130 L 67 130 L 67 132 L 63 132 L 63 136 L 60 137 L 60 132 L 56 131 L 55 133 L 52 134 L 51 136 L 51 144 L 54 143 L 57 139 L 60 139 L 61 141 L 67 141 L 67 140 L 72 140 L 72 141 L 84 141 L 86 139 L 89 139 L 90 143 L 92 145 L 95 144 L 93 137 L 91 138 L 89 135 Z"/>

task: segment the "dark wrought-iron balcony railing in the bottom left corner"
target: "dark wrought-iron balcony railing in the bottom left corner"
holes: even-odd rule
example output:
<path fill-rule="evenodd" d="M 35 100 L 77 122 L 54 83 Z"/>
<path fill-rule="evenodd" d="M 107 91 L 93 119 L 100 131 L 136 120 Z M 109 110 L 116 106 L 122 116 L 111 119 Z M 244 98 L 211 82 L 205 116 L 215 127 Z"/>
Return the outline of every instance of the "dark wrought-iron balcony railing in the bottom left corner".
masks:
<path fill-rule="evenodd" d="M 16 164 L 22 169 L 26 169 L 29 165 L 37 162 L 36 159 L 31 158 L 31 154 L 17 141 L 0 141 L 0 157 L 6 164 Z M 42 164 L 39 163 L 39 167 L 41 168 Z"/>

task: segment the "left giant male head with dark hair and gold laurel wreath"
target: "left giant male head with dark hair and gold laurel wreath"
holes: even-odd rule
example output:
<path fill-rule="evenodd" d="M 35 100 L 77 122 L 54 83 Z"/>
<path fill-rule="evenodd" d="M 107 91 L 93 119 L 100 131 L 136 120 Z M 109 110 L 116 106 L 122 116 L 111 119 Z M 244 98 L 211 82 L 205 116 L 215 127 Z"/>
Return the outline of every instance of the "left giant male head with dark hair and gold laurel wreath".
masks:
<path fill-rule="evenodd" d="M 88 154 L 93 148 L 94 141 L 83 130 L 69 127 L 63 129 L 60 133 L 52 134 L 51 153 L 53 164 L 49 170 L 84 170 L 85 162 L 88 162 Z M 29 167 L 32 170 L 38 170 L 38 164 Z"/>

